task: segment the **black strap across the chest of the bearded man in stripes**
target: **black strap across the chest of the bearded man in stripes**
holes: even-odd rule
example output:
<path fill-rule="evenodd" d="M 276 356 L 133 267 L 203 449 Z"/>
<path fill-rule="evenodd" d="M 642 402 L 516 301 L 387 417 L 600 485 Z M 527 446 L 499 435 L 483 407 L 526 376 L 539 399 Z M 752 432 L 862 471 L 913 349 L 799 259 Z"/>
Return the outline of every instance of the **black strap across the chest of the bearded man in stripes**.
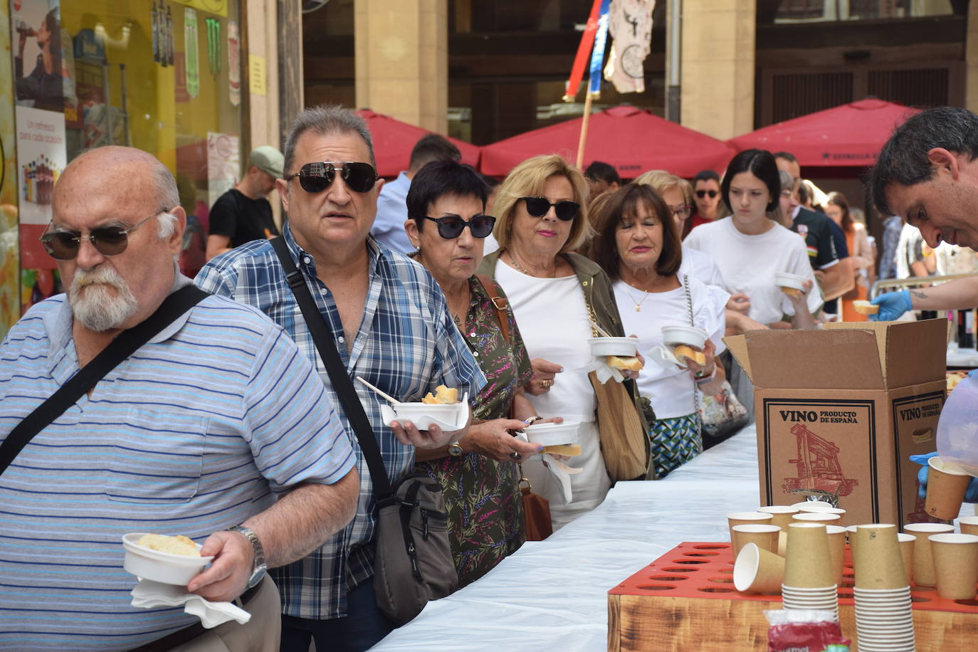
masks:
<path fill-rule="evenodd" d="M 196 285 L 186 285 L 171 293 L 146 320 L 126 328 L 90 363 L 79 369 L 47 401 L 27 414 L 0 444 L 0 475 L 3 475 L 24 446 L 52 421 L 61 416 L 81 396 L 95 387 L 107 373 L 149 342 L 163 328 L 208 296 Z"/>

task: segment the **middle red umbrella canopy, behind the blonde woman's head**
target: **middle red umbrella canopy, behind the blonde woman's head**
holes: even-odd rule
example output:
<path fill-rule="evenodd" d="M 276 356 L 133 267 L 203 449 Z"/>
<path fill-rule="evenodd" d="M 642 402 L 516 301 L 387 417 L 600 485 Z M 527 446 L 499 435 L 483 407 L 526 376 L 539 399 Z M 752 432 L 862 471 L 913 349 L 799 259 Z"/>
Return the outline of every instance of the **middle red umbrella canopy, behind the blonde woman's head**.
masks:
<path fill-rule="evenodd" d="M 583 120 L 567 120 L 483 147 L 482 172 L 502 177 L 521 161 L 538 154 L 557 153 L 574 161 Z M 587 166 L 595 160 L 604 161 L 626 179 L 657 169 L 692 177 L 704 169 L 722 172 L 733 153 L 723 141 L 647 110 L 622 106 L 591 116 L 584 163 Z"/>

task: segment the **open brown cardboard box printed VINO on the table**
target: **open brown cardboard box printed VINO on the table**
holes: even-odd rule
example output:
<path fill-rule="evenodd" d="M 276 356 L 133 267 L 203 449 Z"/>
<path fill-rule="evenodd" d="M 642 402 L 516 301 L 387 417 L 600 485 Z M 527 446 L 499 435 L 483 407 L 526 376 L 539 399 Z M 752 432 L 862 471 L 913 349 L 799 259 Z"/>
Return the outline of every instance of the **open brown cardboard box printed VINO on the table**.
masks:
<path fill-rule="evenodd" d="M 762 504 L 835 493 L 846 524 L 931 521 L 919 465 L 937 450 L 947 321 L 828 324 L 725 338 L 754 383 Z"/>

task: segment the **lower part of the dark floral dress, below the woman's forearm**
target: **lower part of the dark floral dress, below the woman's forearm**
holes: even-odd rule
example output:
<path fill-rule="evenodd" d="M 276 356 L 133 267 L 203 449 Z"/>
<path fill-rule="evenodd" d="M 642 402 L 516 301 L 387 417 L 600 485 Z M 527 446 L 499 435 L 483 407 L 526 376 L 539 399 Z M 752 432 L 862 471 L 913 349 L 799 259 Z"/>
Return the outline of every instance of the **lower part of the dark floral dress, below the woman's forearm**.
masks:
<path fill-rule="evenodd" d="M 478 580 L 523 544 L 519 470 L 477 453 L 417 464 L 442 486 L 459 587 Z"/>

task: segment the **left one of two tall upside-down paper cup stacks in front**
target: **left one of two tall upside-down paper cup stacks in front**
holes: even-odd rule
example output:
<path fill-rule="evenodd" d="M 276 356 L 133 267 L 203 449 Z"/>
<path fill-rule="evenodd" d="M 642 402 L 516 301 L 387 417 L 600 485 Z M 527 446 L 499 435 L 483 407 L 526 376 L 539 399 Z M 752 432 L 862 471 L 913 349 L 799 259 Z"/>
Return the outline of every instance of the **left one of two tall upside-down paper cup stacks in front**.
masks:
<path fill-rule="evenodd" d="M 786 551 L 781 585 L 784 608 L 831 611 L 838 620 L 839 600 L 825 526 L 792 523 Z"/>

